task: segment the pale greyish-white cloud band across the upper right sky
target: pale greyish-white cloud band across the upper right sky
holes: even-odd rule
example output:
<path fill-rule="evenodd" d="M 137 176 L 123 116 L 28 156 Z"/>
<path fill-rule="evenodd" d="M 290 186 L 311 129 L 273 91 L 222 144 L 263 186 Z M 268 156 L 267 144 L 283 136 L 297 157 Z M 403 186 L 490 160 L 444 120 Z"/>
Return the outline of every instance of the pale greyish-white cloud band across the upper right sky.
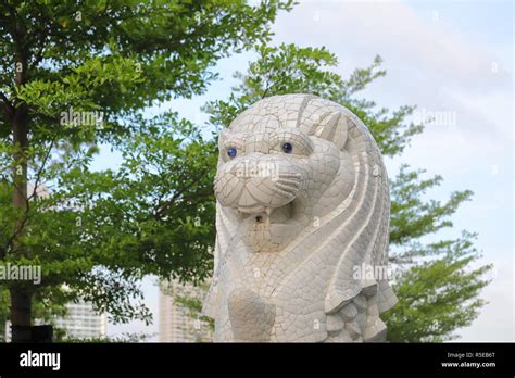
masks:
<path fill-rule="evenodd" d="M 463 8 L 466 11 L 466 3 Z M 440 11 L 419 14 L 409 3 L 394 1 L 301 2 L 291 14 L 279 17 L 277 40 L 325 45 L 343 52 L 340 56 L 349 52 L 379 53 L 387 62 L 415 67 L 424 77 L 438 77 L 448 86 L 508 87 L 511 75 L 499 55 L 477 40 L 467 40 L 460 29 L 441 21 L 439 14 Z"/>

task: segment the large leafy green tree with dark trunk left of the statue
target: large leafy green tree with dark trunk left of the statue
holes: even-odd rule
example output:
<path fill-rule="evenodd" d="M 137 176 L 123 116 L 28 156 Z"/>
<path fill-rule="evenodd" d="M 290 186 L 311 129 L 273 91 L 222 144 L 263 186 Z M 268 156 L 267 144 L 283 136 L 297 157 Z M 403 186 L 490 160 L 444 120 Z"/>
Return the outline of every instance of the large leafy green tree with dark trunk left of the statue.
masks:
<path fill-rule="evenodd" d="M 200 174 L 212 163 L 197 154 L 210 143 L 174 114 L 140 112 L 202 93 L 217 60 L 268 40 L 277 12 L 290 8 L 0 3 L 0 263 L 41 265 L 43 277 L 40 286 L 3 285 L 13 325 L 30 325 L 41 294 L 55 303 L 80 295 L 118 322 L 149 319 L 130 301 L 143 275 L 205 276 L 212 229 L 198 225 L 211 222 L 213 206 L 210 173 Z M 101 143 L 124 149 L 118 171 L 91 172 Z M 38 196 L 43 185 L 50 196 Z"/>

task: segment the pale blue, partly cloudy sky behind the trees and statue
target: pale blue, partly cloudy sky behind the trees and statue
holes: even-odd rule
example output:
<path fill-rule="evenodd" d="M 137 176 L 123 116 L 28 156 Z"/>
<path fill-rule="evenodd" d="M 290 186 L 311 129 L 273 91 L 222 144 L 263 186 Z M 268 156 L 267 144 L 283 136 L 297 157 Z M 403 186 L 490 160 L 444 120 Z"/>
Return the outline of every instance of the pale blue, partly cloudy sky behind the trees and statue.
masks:
<path fill-rule="evenodd" d="M 386 163 L 390 177 L 402 163 L 426 169 L 425 177 L 441 175 L 444 181 L 429 196 L 442 202 L 455 190 L 474 191 L 473 200 L 453 216 L 454 227 L 438 235 L 478 232 L 479 264 L 494 265 L 492 282 L 481 292 L 488 304 L 470 327 L 457 331 L 461 341 L 515 340 L 513 20 L 511 1 L 322 0 L 300 1 L 273 26 L 273 45 L 325 46 L 338 56 L 337 71 L 343 76 L 379 54 L 387 76 L 362 97 L 390 109 L 417 105 L 418 119 L 438 116 L 401 156 Z M 253 58 L 246 52 L 222 60 L 215 67 L 221 79 L 206 93 L 149 113 L 175 110 L 205 122 L 200 108 L 227 98 L 237 83 L 233 73 L 244 71 Z M 108 152 L 96 161 L 98 168 L 113 165 L 116 159 Z M 146 303 L 155 314 L 153 325 L 110 325 L 109 335 L 158 332 L 155 281 L 149 277 L 142 284 Z"/>

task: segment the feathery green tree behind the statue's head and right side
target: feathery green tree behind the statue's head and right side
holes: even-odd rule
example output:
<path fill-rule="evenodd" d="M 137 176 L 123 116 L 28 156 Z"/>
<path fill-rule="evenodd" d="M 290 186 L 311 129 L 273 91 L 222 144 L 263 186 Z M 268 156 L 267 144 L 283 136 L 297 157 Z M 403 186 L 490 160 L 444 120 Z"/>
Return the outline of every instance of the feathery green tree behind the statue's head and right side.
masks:
<path fill-rule="evenodd" d="M 240 84 L 229 99 L 205 106 L 217 128 L 228 126 L 238 113 L 264 97 L 306 92 L 349 108 L 389 158 L 400 156 L 412 137 L 424 129 L 409 122 L 414 106 L 378 109 L 374 101 L 356 96 L 386 74 L 379 56 L 369 67 L 343 78 L 335 73 L 337 58 L 325 48 L 262 45 L 256 51 L 259 58 L 247 72 L 235 74 Z M 440 176 L 425 178 L 423 171 L 410 171 L 407 165 L 391 179 L 390 262 L 399 272 L 393 288 L 400 302 L 384 315 L 390 341 L 454 339 L 454 331 L 468 326 L 485 304 L 478 295 L 488 284 L 485 274 L 491 265 L 473 267 L 479 257 L 475 234 L 463 231 L 453 240 L 422 242 L 422 238 L 438 239 L 440 229 L 452 227 L 450 216 L 472 197 L 469 190 L 462 190 L 443 203 L 425 200 L 427 191 L 441 181 Z"/>

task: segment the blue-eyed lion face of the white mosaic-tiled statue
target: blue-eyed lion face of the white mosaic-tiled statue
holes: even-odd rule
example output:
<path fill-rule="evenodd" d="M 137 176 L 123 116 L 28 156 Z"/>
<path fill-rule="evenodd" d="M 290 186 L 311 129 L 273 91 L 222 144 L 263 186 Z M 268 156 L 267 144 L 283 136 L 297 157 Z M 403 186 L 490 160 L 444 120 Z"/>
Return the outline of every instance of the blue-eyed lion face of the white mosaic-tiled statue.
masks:
<path fill-rule="evenodd" d="M 274 117 L 252 126 L 237 119 L 219 138 L 215 194 L 240 222 L 246 245 L 279 251 L 329 210 L 317 204 L 342 162 L 352 164 L 332 141 Z"/>

